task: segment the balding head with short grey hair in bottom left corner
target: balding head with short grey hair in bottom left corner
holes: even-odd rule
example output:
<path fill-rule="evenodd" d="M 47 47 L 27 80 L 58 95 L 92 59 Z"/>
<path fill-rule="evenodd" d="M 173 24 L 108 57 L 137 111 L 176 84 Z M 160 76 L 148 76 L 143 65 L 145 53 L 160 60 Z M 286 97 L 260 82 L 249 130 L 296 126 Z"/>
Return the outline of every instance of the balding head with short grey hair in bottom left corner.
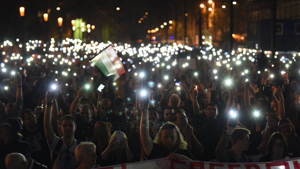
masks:
<path fill-rule="evenodd" d="M 19 168 L 21 164 L 26 165 L 26 158 L 20 153 L 8 154 L 5 158 L 5 165 L 7 169 Z"/>

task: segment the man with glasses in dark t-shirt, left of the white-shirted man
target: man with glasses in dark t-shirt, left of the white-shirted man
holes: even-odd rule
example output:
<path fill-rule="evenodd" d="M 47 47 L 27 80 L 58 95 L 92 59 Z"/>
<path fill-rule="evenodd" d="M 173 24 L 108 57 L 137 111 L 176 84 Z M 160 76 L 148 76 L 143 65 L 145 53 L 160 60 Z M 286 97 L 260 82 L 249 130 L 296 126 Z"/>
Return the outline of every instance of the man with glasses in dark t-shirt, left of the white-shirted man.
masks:
<path fill-rule="evenodd" d="M 44 113 L 41 112 L 41 118 L 37 120 L 35 114 L 30 109 L 21 112 L 23 121 L 22 141 L 26 141 L 31 150 L 31 157 L 38 163 L 51 168 L 50 150 L 47 144 L 44 129 Z"/>

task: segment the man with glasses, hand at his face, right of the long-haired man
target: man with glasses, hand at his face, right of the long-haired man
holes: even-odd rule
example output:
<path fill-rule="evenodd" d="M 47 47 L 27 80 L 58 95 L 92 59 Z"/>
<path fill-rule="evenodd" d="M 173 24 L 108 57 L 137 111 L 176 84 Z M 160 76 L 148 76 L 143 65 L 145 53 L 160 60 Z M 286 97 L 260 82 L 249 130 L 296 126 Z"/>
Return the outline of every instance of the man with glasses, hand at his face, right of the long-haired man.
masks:
<path fill-rule="evenodd" d="M 193 127 L 188 124 L 188 117 L 183 109 L 174 111 L 172 114 L 173 123 L 180 129 L 187 141 L 187 150 L 189 150 L 196 158 L 203 154 L 202 144 L 194 135 Z M 199 160 L 199 159 L 198 159 Z"/>

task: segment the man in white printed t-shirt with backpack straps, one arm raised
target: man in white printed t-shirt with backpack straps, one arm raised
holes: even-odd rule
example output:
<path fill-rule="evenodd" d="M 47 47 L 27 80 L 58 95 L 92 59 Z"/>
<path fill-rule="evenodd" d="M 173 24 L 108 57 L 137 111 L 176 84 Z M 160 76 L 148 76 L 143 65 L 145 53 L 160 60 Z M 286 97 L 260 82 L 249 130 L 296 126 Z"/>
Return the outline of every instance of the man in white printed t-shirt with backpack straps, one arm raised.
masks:
<path fill-rule="evenodd" d="M 51 94 L 49 90 L 46 94 L 46 109 L 44 117 L 45 134 L 48 142 L 48 146 L 51 152 L 52 168 L 53 169 L 74 169 L 80 165 L 80 162 L 76 160 L 75 149 L 79 144 L 74 138 L 74 132 L 76 129 L 75 118 L 71 115 L 65 115 L 61 118 L 61 132 L 62 138 L 54 135 L 51 126 L 51 109 L 52 102 L 57 97 L 57 93 Z"/>

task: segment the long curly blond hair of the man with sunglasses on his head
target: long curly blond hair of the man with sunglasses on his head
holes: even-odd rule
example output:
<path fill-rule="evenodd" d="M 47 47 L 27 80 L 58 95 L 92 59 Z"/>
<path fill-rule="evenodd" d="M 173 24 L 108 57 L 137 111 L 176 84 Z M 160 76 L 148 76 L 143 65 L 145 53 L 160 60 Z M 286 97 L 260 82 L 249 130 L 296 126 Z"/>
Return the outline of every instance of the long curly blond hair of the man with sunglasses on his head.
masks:
<path fill-rule="evenodd" d="M 162 125 L 159 128 L 159 131 L 155 135 L 155 138 L 153 140 L 154 143 L 159 144 L 159 145 L 163 144 L 161 141 L 161 133 L 162 133 L 162 130 L 164 130 L 164 129 L 174 129 L 176 131 L 177 140 L 176 140 L 175 147 L 177 149 L 181 149 L 181 150 L 187 149 L 187 142 L 184 140 L 182 133 L 180 132 L 179 128 L 174 123 L 171 123 L 171 122 L 166 122 L 166 123 L 164 123 L 164 125 Z"/>

